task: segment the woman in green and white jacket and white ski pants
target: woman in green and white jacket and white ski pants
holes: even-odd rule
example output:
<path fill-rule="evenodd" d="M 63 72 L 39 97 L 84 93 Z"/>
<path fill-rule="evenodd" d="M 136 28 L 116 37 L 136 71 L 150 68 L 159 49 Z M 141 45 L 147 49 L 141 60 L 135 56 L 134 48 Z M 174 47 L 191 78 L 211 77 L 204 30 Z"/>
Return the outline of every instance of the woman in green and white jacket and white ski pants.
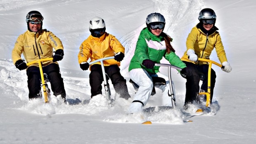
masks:
<path fill-rule="evenodd" d="M 160 63 L 164 57 L 171 65 L 182 68 L 182 72 L 185 72 L 186 67 L 175 54 L 171 46 L 171 37 L 163 32 L 164 16 L 160 13 L 149 14 L 146 25 L 147 27 L 143 28 L 137 40 L 135 53 L 129 65 L 130 78 L 139 86 L 128 109 L 128 113 L 131 114 L 142 112 L 142 107 L 147 104 L 153 89 L 152 77 L 167 77 L 159 72 L 159 67 L 154 66 L 155 63 Z M 168 96 L 169 81 L 166 81 L 166 85 L 155 87 L 162 90 L 162 105 L 172 106 L 171 97 Z"/>

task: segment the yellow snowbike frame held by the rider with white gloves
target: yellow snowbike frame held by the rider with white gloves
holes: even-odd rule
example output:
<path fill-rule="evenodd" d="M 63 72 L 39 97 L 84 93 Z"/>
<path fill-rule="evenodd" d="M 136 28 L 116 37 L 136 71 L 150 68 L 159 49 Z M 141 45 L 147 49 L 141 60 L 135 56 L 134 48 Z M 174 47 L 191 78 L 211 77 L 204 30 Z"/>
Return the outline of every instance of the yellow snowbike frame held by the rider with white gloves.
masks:
<path fill-rule="evenodd" d="M 216 63 L 213 60 L 208 60 L 208 59 L 204 59 L 204 58 L 198 58 L 199 61 L 202 62 L 208 62 L 209 64 L 209 68 L 208 68 L 208 86 L 207 86 L 207 93 L 206 92 L 201 92 L 199 93 L 199 95 L 206 95 L 206 107 L 210 107 L 210 98 L 211 98 L 211 65 L 217 65 L 219 67 L 222 67 L 221 64 Z"/>

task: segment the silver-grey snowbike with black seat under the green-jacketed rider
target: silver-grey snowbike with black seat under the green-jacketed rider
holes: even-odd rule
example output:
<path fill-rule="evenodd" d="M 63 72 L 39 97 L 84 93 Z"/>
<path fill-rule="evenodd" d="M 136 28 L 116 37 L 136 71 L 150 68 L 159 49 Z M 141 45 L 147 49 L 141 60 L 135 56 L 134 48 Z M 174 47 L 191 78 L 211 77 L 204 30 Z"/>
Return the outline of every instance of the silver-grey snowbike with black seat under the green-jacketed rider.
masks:
<path fill-rule="evenodd" d="M 174 65 L 171 64 L 163 64 L 163 63 L 156 63 L 155 66 L 160 66 L 160 67 L 168 67 L 168 79 L 169 79 L 169 85 L 170 85 L 170 91 L 168 91 L 168 96 L 171 97 L 171 103 L 172 103 L 172 107 L 168 107 L 168 106 L 160 106 L 158 107 L 159 109 L 171 109 L 171 108 L 175 108 L 176 107 L 176 100 L 175 100 L 175 89 L 174 89 L 174 84 L 173 81 L 171 79 L 171 68 L 175 68 L 176 70 L 182 70 L 180 67 L 176 67 Z M 166 80 L 162 77 L 152 77 L 152 81 L 153 81 L 153 85 L 157 86 L 157 85 L 165 85 L 166 84 Z M 138 90 L 139 86 L 132 80 L 130 79 L 130 83 L 133 84 L 133 87 L 135 88 L 135 91 Z M 153 86 L 153 90 L 151 92 L 151 95 L 154 95 L 156 93 L 155 88 Z M 169 93 L 170 92 L 170 93 Z M 151 113 L 155 110 L 156 107 L 149 107 L 144 109 L 145 112 Z"/>

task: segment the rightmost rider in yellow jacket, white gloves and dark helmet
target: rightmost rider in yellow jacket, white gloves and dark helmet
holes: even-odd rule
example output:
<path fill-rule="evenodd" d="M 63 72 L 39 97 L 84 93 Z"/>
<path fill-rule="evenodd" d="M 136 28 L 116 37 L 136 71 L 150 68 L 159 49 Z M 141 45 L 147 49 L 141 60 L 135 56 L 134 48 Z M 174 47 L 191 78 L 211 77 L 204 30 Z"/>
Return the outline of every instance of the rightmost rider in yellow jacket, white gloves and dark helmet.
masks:
<path fill-rule="evenodd" d="M 218 28 L 215 26 L 216 14 L 212 9 L 202 9 L 199 13 L 199 23 L 192 28 L 187 37 L 185 51 L 181 60 L 187 65 L 185 71 L 180 74 L 187 79 L 185 106 L 192 104 L 193 101 L 199 100 L 199 81 L 204 76 L 201 85 L 201 92 L 207 92 L 208 84 L 208 67 L 206 62 L 198 61 L 198 58 L 210 59 L 211 52 L 216 49 L 220 63 L 223 65 L 222 70 L 231 72 L 232 67 L 228 63 L 224 46 L 222 44 Z M 216 72 L 211 69 L 211 98 L 213 98 L 213 89 L 216 83 Z"/>

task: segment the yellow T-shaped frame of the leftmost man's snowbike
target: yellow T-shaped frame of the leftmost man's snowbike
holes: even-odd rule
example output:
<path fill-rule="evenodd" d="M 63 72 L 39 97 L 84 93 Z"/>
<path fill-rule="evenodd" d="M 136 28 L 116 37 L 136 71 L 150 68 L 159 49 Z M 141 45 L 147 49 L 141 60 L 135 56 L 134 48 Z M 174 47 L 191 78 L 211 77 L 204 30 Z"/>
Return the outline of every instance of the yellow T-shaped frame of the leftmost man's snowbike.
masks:
<path fill-rule="evenodd" d="M 42 85 L 43 85 L 43 94 L 44 94 L 44 98 L 45 98 L 45 103 L 48 102 L 48 97 L 47 97 L 47 91 L 46 91 L 46 88 L 45 88 L 45 78 L 43 77 L 42 62 L 43 61 L 50 61 L 50 60 L 53 60 L 53 58 L 42 58 L 42 59 L 35 60 L 35 61 L 30 62 L 30 63 L 27 63 L 27 66 L 32 65 L 34 63 L 38 63 L 38 65 L 39 65 L 41 81 L 42 81 Z"/>

